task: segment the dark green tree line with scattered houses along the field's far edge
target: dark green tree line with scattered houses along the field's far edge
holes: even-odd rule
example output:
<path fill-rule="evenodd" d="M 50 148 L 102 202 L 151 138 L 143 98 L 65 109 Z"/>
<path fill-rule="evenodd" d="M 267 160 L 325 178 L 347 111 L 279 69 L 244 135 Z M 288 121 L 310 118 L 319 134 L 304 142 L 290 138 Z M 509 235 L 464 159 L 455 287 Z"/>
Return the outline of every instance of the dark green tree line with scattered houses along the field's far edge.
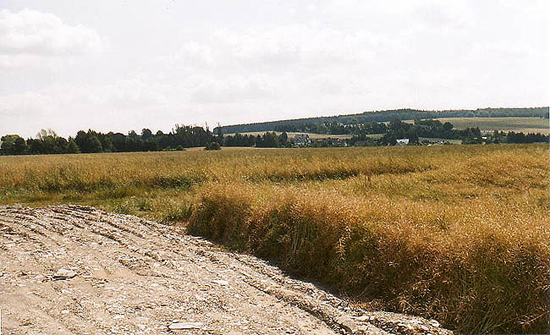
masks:
<path fill-rule="evenodd" d="M 93 130 L 79 131 L 68 139 L 58 136 L 52 130 L 41 130 L 36 138 L 25 140 L 19 135 L 5 135 L 0 138 L 0 154 L 63 154 L 97 152 L 137 152 L 137 151 L 179 151 L 190 147 L 205 147 L 207 150 L 219 150 L 227 147 L 326 147 L 326 146 L 370 146 L 395 145 L 398 139 L 408 139 L 409 144 L 430 143 L 427 139 L 436 139 L 436 143 L 445 140 L 461 140 L 463 144 L 476 143 L 538 143 L 548 142 L 543 134 L 524 134 L 516 132 L 494 131 L 482 133 L 479 128 L 454 129 L 450 122 L 439 120 L 415 120 L 414 123 L 394 119 L 389 123 L 368 122 L 365 124 L 334 124 L 337 134 L 352 134 L 350 139 L 324 138 L 310 139 L 306 135 L 295 138 L 283 132 L 265 132 L 262 135 L 223 135 L 221 129 L 213 133 L 208 128 L 176 125 L 169 133 L 142 129 L 138 134 L 130 131 L 122 133 L 101 133 Z M 371 134 L 383 134 L 373 138 Z M 423 140 L 421 140 L 423 138 Z M 433 141 L 432 141 L 433 142 Z"/>

